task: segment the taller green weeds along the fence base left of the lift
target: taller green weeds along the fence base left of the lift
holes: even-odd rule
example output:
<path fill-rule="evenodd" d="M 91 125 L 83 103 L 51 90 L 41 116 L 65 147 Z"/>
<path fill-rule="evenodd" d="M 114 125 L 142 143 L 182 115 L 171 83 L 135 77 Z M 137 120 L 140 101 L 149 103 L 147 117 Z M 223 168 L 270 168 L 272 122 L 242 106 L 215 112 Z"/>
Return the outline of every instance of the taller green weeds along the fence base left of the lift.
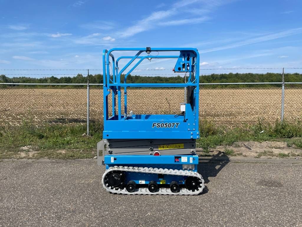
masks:
<path fill-rule="evenodd" d="M 14 151 L 16 148 L 31 145 L 41 150 L 56 149 L 93 149 L 101 140 L 102 125 L 90 125 L 92 136 L 83 137 L 86 125 L 81 124 L 50 124 L 42 127 L 24 123 L 17 127 L 2 128 L 0 137 L 0 151 Z"/>

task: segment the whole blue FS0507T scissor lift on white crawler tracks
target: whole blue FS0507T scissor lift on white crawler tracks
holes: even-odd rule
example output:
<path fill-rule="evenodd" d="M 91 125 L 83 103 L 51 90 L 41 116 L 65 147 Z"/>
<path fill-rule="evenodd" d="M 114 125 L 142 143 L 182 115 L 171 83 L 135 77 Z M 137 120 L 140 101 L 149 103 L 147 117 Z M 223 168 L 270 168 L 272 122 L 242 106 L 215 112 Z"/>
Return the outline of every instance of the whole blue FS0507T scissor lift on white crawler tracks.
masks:
<path fill-rule="evenodd" d="M 122 56 L 115 60 L 114 51 L 123 53 L 137 51 L 137 54 Z M 162 55 L 165 53 L 175 55 Z M 143 60 L 153 58 L 177 59 L 173 71 L 187 75 L 184 83 L 126 83 L 127 76 Z M 118 62 L 121 59 L 127 60 L 128 63 L 119 69 Z M 128 68 L 130 70 L 126 71 Z M 122 74 L 124 74 L 124 81 L 120 81 Z M 117 194 L 197 195 L 201 193 L 204 180 L 197 172 L 198 156 L 196 155 L 196 139 L 199 138 L 197 49 L 147 47 L 104 50 L 103 77 L 104 131 L 103 140 L 97 144 L 97 158 L 98 165 L 106 166 L 102 177 L 104 188 L 108 192 Z M 128 112 L 127 88 L 133 87 L 183 87 L 185 95 L 184 103 L 180 104 L 180 114 Z M 109 96 L 112 100 L 112 109 L 108 107 Z M 124 98 L 123 108 L 122 98 Z M 152 105 L 150 103 L 150 106 Z M 100 156 L 101 152 L 102 156 Z"/>

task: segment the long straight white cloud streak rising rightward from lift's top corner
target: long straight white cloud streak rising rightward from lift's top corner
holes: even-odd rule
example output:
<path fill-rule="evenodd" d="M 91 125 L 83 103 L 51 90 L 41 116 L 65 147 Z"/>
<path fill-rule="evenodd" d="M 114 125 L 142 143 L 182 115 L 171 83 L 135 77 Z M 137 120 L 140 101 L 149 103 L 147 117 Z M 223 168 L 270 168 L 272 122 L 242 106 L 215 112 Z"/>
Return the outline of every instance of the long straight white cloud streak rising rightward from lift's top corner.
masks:
<path fill-rule="evenodd" d="M 215 47 L 215 48 L 201 50 L 201 51 L 199 51 L 199 53 L 208 53 L 208 52 L 213 52 L 213 51 L 221 51 L 221 50 L 241 47 L 241 46 L 245 46 L 245 45 L 249 45 L 249 44 L 269 41 L 269 40 L 278 39 L 278 38 L 283 38 L 283 37 L 296 35 L 296 34 L 300 34 L 300 33 L 302 33 L 302 28 L 295 28 L 295 29 L 290 29 L 290 30 L 287 30 L 287 31 L 282 31 L 282 32 L 278 32 L 278 33 L 273 33 L 273 34 L 269 34 L 269 35 L 260 36 L 260 37 L 257 37 L 257 38 L 252 38 L 252 39 L 247 39 L 247 40 L 244 40 L 244 41 L 239 41 L 239 42 L 236 42 L 236 43 L 233 43 L 233 44 L 228 44 L 228 45 L 221 46 L 221 47 Z"/>

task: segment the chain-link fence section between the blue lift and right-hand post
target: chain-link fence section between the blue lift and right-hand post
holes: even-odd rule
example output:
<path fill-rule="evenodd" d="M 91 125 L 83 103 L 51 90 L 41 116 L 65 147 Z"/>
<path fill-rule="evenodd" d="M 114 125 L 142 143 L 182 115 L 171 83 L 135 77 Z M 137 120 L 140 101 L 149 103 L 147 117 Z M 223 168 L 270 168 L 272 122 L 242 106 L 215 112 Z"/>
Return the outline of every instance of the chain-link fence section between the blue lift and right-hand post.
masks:
<path fill-rule="evenodd" d="M 281 116 L 281 87 L 202 88 L 201 117 L 219 124 L 274 122 Z M 302 105 L 301 107 L 302 108 Z M 297 116 L 296 116 L 297 117 Z"/>

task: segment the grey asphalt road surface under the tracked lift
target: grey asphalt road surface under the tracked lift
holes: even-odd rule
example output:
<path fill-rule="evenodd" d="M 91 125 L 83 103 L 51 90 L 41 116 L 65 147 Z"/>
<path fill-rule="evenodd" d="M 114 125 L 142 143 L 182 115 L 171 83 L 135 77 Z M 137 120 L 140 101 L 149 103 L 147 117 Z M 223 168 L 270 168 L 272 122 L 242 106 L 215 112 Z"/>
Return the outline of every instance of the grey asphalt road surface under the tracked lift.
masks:
<path fill-rule="evenodd" d="M 95 161 L 0 162 L 0 226 L 302 226 L 301 170 L 206 162 L 207 193 L 123 196 L 102 188 Z"/>

